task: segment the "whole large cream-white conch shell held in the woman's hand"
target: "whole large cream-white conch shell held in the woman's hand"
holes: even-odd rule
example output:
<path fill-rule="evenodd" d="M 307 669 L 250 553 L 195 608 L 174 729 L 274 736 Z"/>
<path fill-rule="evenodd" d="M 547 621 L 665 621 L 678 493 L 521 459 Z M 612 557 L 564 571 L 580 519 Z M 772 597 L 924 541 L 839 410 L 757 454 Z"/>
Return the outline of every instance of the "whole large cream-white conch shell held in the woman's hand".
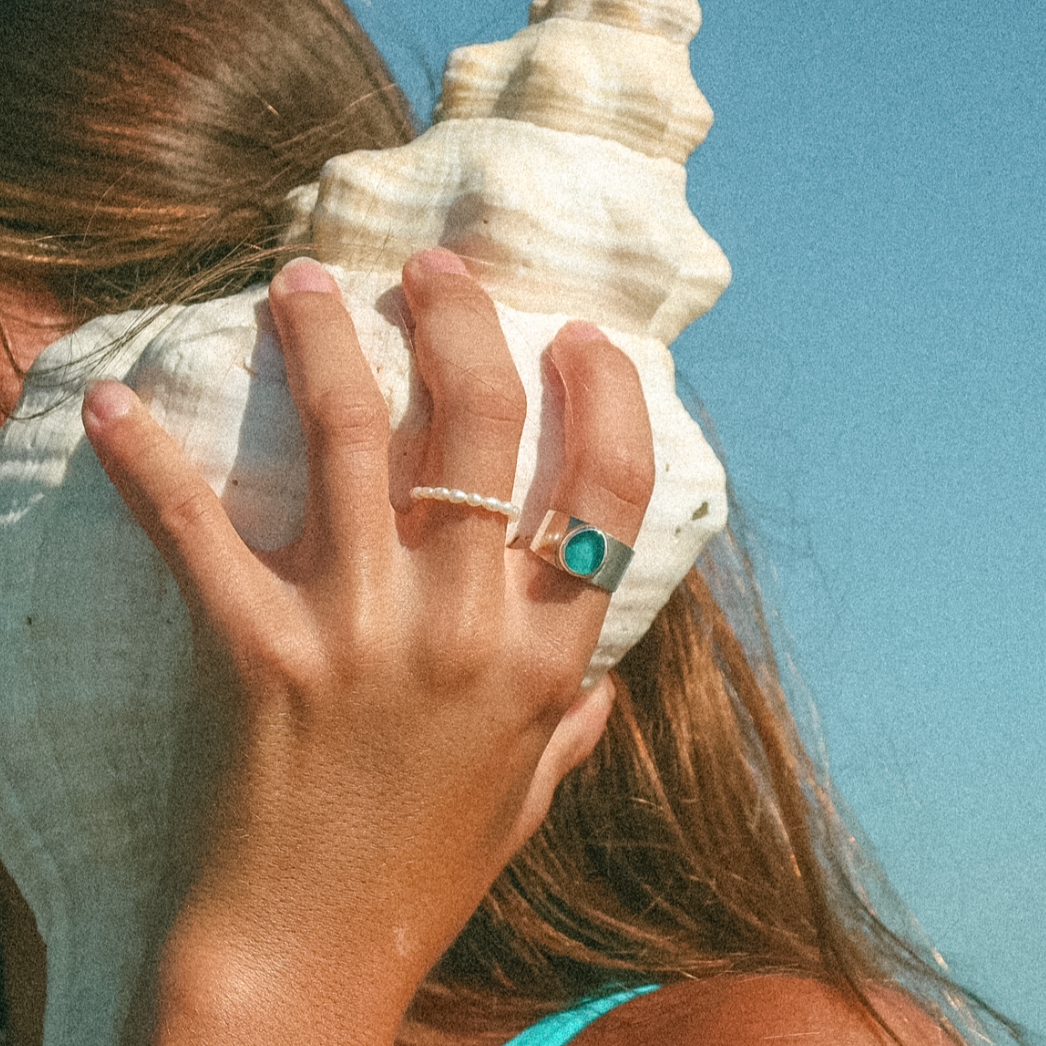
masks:
<path fill-rule="evenodd" d="M 528 392 L 509 541 L 549 507 L 559 432 L 539 360 L 555 332 L 597 323 L 636 362 L 657 482 L 590 681 L 726 520 L 722 467 L 676 396 L 665 347 L 730 275 L 685 199 L 683 161 L 711 122 L 689 74 L 700 21 L 693 0 L 536 0 L 511 40 L 452 55 L 430 131 L 337 157 L 288 201 L 288 242 L 315 244 L 331 268 L 388 402 L 397 506 L 428 411 L 399 290 L 414 251 L 440 244 L 467 260 Z M 265 290 L 93 321 L 44 354 L 38 378 L 97 374 L 114 343 L 100 372 L 151 403 L 245 540 L 291 540 L 303 448 Z M 192 792 L 190 637 L 168 572 L 84 441 L 78 404 L 37 381 L 19 413 L 0 431 L 0 860 L 47 943 L 47 1046 L 115 1046 L 174 890 L 174 796 Z"/>

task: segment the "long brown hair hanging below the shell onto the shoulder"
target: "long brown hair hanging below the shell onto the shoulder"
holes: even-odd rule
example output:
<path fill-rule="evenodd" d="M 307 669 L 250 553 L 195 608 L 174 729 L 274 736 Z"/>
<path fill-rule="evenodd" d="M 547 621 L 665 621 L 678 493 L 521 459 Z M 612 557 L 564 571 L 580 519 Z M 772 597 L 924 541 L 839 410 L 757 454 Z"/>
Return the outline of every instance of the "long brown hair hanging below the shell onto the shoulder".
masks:
<path fill-rule="evenodd" d="M 733 533 L 712 542 L 615 683 L 601 744 L 418 992 L 405 1046 L 502 1042 L 622 986 L 759 973 L 834 984 L 899 1043 L 877 988 L 907 996 L 956 1043 L 1000 1041 L 990 1030 L 1025 1042 L 917 940 L 851 835 L 789 709 Z"/>

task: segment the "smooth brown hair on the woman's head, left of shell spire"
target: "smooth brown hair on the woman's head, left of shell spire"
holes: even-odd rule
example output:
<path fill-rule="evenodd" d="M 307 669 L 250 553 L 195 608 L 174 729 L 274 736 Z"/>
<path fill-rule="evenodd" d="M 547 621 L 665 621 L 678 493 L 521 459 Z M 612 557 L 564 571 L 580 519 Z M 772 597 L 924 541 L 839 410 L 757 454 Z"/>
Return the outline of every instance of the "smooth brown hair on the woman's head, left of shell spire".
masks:
<path fill-rule="evenodd" d="M 413 135 L 341 0 L 13 0 L 0 272 L 77 319 L 270 275 L 283 197 Z"/>

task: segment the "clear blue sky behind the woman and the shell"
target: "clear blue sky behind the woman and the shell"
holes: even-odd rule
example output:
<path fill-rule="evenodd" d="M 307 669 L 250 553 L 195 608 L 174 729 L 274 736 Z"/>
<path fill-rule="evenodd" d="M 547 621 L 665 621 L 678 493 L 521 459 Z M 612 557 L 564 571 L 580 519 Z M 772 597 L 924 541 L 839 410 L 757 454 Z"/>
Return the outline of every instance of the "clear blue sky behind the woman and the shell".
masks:
<path fill-rule="evenodd" d="M 418 112 L 523 0 L 353 0 Z M 1046 4 L 708 0 L 675 346 L 836 779 L 954 971 L 1046 1036 Z M 772 568 L 771 565 L 772 564 Z"/>

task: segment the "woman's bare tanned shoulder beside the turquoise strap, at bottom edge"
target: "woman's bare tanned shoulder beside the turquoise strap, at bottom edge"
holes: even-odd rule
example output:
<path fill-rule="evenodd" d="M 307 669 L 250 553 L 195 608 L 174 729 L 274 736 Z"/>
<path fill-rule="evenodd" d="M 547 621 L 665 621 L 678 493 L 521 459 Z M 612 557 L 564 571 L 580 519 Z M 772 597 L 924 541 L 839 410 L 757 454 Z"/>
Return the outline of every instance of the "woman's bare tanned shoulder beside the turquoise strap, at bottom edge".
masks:
<path fill-rule="evenodd" d="M 904 1046 L 952 1040 L 899 992 L 869 991 Z M 736 975 L 670 984 L 618 1006 L 571 1046 L 888 1046 L 894 1042 L 859 1004 L 812 977 Z"/>

